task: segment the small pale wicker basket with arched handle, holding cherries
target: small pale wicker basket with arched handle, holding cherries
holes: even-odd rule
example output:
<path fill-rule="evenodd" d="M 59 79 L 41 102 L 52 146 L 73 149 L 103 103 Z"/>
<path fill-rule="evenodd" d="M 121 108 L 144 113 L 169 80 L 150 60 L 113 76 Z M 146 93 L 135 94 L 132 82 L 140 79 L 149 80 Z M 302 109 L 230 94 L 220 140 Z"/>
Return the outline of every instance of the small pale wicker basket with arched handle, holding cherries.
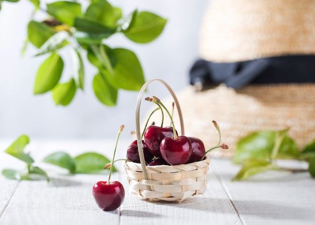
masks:
<path fill-rule="evenodd" d="M 145 165 L 141 144 L 139 111 L 143 93 L 146 87 L 153 81 L 163 83 L 172 94 L 180 118 L 181 133 L 184 135 L 181 108 L 171 87 L 163 80 L 150 80 L 146 82 L 139 92 L 136 105 L 136 135 L 141 163 L 126 162 L 124 164 L 126 179 L 129 183 L 129 192 L 150 201 L 165 200 L 181 202 L 184 199 L 205 192 L 210 158 L 208 156 L 203 161 L 175 166 Z"/>

